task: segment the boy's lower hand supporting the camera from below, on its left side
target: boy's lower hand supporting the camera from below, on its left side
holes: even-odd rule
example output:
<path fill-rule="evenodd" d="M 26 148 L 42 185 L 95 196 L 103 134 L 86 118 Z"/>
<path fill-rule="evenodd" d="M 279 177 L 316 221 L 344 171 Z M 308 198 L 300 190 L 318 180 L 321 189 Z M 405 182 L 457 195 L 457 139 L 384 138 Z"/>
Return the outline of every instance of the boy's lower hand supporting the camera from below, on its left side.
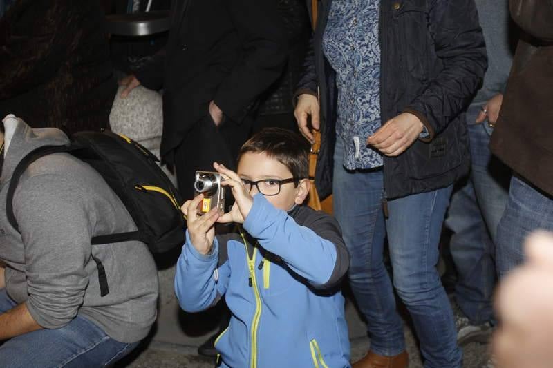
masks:
<path fill-rule="evenodd" d="M 192 246 L 198 253 L 206 255 L 212 250 L 215 238 L 214 224 L 219 214 L 217 209 L 212 209 L 202 216 L 198 215 L 198 204 L 201 200 L 203 200 L 203 194 L 196 196 L 194 200 L 187 200 L 180 209 L 187 215 L 186 224 Z"/>

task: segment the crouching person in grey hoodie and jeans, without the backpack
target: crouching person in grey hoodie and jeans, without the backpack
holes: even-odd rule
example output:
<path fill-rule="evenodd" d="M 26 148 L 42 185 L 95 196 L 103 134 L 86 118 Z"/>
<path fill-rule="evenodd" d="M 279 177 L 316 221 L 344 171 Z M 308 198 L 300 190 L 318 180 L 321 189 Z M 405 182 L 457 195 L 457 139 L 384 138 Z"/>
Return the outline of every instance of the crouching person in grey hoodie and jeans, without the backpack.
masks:
<path fill-rule="evenodd" d="M 4 126 L 0 365 L 110 366 L 156 319 L 153 258 L 142 242 L 91 246 L 95 235 L 136 227 L 100 174 L 68 153 L 41 157 L 21 175 L 12 201 L 19 231 L 12 227 L 6 198 L 15 167 L 35 148 L 69 141 L 61 130 L 32 129 L 9 115 Z M 104 272 L 109 293 L 102 296 Z"/>

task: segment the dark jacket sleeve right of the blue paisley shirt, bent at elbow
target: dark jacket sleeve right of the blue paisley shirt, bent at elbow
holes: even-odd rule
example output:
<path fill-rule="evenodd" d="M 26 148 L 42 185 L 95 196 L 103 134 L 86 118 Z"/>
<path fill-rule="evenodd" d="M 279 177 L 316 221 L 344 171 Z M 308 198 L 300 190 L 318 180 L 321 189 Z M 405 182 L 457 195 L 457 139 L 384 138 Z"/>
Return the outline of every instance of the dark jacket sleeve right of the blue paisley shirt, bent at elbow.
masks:
<path fill-rule="evenodd" d="M 487 68 L 482 29 L 474 0 L 433 0 L 429 32 L 443 69 L 404 109 L 416 115 L 429 130 L 429 142 L 470 103 Z"/>

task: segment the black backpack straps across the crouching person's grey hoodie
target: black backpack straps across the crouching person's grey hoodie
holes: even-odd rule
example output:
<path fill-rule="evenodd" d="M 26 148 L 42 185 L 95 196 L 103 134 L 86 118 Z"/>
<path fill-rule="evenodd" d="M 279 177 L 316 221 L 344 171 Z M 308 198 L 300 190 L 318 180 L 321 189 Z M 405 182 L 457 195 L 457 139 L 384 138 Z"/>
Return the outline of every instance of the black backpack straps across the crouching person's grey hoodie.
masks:
<path fill-rule="evenodd" d="M 71 146 L 42 146 L 34 151 L 31 151 L 28 153 L 19 164 L 17 164 L 12 179 L 10 180 L 10 187 L 8 188 L 8 195 L 7 195 L 7 202 L 6 202 L 6 216 L 8 217 L 8 221 L 13 226 L 13 228 L 19 232 L 19 226 L 17 224 L 17 220 L 15 219 L 15 215 L 13 214 L 13 196 L 15 195 L 15 190 L 17 188 L 17 184 L 19 184 L 19 180 L 21 179 L 21 175 L 26 171 L 26 169 L 29 167 L 30 164 L 35 162 L 37 159 L 44 157 L 46 155 L 51 155 L 53 153 L 61 153 L 61 152 L 71 152 L 71 151 L 77 151 L 79 149 L 82 149 L 81 146 L 77 145 L 71 145 Z M 135 240 L 135 238 L 138 237 L 138 231 L 132 231 L 129 233 L 120 233 L 120 234 L 113 234 L 113 235 L 100 235 L 95 236 L 91 239 L 91 244 L 107 244 L 111 242 L 123 242 L 126 240 Z M 106 270 L 104 269 L 104 265 L 102 262 L 96 258 L 92 253 L 91 257 L 96 263 L 96 268 L 98 270 L 98 283 L 100 284 L 100 296 L 106 296 L 109 294 L 109 287 L 108 287 L 108 279 L 106 276 Z"/>

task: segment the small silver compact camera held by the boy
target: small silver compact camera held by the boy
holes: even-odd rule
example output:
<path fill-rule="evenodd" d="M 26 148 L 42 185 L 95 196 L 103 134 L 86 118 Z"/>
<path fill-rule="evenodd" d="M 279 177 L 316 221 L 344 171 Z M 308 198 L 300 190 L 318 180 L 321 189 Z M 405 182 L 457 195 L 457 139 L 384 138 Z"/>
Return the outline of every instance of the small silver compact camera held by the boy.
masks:
<path fill-rule="evenodd" d="M 225 213 L 225 188 L 221 186 L 221 174 L 213 171 L 196 171 L 194 180 L 196 195 L 202 193 L 203 200 L 198 206 L 198 214 L 203 215 L 211 209 Z"/>

